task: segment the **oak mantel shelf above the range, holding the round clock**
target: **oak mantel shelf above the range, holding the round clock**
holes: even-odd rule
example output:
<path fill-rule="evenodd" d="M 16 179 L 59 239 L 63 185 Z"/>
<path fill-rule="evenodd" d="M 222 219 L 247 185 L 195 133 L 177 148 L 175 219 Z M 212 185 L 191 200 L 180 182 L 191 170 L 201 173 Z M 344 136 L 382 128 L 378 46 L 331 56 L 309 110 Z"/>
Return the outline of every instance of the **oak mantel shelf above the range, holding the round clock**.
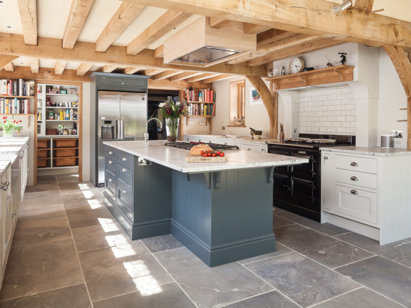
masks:
<path fill-rule="evenodd" d="M 267 78 L 266 80 L 274 84 L 274 90 L 285 90 L 352 81 L 353 79 L 354 67 L 350 65 L 339 65 L 296 74 Z"/>

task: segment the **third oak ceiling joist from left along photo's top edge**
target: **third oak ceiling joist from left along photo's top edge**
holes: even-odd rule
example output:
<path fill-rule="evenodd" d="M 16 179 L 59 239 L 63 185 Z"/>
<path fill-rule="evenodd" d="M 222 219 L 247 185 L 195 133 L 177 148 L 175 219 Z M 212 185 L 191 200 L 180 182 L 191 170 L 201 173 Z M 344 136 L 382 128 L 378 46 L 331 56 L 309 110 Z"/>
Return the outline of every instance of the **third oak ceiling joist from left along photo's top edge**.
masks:
<path fill-rule="evenodd" d="M 136 17 L 145 8 L 145 5 L 139 5 L 130 2 L 123 2 L 118 10 L 114 13 L 107 26 L 101 32 L 96 41 L 96 51 L 105 52 L 117 37 L 132 23 Z"/>

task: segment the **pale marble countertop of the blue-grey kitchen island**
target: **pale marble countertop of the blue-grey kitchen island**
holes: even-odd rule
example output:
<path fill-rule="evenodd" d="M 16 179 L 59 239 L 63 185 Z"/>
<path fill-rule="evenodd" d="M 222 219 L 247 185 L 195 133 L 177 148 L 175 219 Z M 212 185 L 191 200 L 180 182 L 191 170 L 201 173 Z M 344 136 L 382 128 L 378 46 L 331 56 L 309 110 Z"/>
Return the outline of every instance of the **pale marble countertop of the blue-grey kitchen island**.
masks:
<path fill-rule="evenodd" d="M 308 163 L 308 159 L 246 150 L 227 151 L 225 163 L 186 163 L 188 150 L 173 148 L 159 141 L 106 141 L 103 144 L 142 157 L 183 173 L 199 173 L 232 169 L 247 169 Z"/>

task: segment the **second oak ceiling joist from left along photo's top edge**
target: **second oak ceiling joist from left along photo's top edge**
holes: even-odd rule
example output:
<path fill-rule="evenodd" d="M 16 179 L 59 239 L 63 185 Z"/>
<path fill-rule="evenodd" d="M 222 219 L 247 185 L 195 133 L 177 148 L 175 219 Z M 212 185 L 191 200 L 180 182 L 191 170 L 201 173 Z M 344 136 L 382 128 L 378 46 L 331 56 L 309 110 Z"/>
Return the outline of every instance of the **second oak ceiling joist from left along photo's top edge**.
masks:
<path fill-rule="evenodd" d="M 73 49 L 93 3 L 94 0 L 72 0 L 63 34 L 63 48 Z"/>

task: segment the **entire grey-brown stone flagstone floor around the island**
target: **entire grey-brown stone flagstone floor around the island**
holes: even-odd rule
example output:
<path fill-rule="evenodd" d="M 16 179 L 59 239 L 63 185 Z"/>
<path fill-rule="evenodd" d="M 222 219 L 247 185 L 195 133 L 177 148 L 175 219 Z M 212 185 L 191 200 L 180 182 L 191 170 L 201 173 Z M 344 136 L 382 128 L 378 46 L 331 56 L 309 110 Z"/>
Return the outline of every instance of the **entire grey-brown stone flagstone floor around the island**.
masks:
<path fill-rule="evenodd" d="M 275 253 L 209 268 L 171 235 L 131 241 L 90 182 L 38 183 L 24 195 L 2 308 L 411 307 L 411 239 L 380 246 L 276 209 Z"/>

